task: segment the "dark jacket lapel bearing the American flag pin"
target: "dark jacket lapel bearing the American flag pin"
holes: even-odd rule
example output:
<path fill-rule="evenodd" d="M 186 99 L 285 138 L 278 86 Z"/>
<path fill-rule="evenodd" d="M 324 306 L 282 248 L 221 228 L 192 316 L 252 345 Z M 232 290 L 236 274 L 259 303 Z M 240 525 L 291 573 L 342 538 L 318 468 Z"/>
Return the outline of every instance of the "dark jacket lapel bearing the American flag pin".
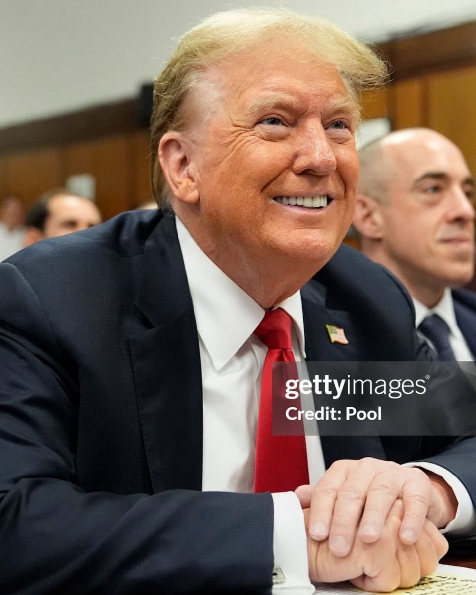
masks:
<path fill-rule="evenodd" d="M 306 360 L 308 362 L 359 361 L 364 352 L 352 324 L 349 312 L 333 309 L 327 288 L 316 281 L 301 290 Z M 347 345 L 332 343 L 326 325 L 344 329 Z M 372 456 L 386 459 L 378 436 L 321 436 L 326 468 L 339 459 L 361 459 Z"/>

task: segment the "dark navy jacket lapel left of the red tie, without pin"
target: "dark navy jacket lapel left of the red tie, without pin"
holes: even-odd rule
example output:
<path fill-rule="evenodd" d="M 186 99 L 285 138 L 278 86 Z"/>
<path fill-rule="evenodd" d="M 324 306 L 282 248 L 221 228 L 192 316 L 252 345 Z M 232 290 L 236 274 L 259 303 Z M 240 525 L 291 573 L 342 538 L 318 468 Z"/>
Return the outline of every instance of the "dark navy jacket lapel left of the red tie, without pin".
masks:
<path fill-rule="evenodd" d="M 146 242 L 140 275 L 135 303 L 145 328 L 129 347 L 152 488 L 201 490 L 198 333 L 173 217 Z"/>

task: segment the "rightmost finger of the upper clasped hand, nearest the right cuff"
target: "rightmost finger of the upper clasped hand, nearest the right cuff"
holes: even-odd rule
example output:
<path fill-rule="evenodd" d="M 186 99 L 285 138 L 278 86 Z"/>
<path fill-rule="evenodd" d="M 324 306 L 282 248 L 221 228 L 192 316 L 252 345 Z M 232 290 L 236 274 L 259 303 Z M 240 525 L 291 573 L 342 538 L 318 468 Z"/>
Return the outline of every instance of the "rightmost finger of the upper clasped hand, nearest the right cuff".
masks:
<path fill-rule="evenodd" d="M 421 469 L 412 469 L 413 477 L 402 489 L 404 514 L 400 526 L 400 541 L 410 545 L 417 541 L 423 530 L 431 503 L 431 483 Z"/>

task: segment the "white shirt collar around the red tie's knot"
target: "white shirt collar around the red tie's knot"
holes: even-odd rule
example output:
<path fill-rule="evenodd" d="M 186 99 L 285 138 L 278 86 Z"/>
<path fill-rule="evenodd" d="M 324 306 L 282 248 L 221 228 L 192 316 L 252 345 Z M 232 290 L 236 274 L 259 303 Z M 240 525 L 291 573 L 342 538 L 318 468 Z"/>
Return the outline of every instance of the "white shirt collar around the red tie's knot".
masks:
<path fill-rule="evenodd" d="M 265 311 L 206 256 L 178 217 L 176 227 L 198 334 L 218 371 L 249 339 Z M 300 292 L 287 297 L 279 307 L 292 318 L 300 350 L 305 357 Z"/>

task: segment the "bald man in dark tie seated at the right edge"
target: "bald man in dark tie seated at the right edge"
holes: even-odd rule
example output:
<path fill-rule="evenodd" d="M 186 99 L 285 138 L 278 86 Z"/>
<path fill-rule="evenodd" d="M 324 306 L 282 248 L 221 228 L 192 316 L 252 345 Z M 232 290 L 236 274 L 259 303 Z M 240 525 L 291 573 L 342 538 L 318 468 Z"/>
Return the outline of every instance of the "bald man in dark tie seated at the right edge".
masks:
<path fill-rule="evenodd" d="M 474 179 L 434 130 L 400 130 L 362 149 L 353 225 L 362 252 L 406 286 L 415 322 L 439 359 L 474 361 Z M 443 321 L 443 322 L 442 322 Z"/>

